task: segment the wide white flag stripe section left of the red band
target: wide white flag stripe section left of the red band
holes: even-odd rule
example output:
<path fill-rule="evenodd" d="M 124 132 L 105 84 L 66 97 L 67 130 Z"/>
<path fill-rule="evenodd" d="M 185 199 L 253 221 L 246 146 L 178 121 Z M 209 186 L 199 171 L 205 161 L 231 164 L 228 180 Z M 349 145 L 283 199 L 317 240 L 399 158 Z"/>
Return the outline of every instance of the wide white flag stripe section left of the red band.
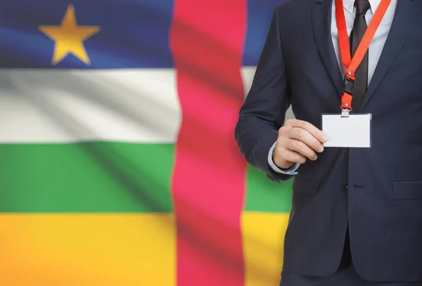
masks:
<path fill-rule="evenodd" d="M 174 143 L 173 69 L 0 70 L 0 143 Z"/>

